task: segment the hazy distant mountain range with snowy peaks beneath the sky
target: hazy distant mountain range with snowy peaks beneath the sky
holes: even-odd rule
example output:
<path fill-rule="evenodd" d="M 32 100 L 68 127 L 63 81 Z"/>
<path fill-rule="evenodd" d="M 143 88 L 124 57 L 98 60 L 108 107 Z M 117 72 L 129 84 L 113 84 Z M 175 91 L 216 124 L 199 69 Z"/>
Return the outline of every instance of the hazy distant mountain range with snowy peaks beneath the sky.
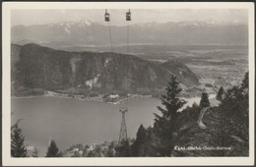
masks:
<path fill-rule="evenodd" d="M 127 27 L 108 27 L 88 20 L 46 25 L 14 26 L 11 39 L 16 44 L 37 43 L 64 50 L 66 47 L 105 47 L 126 45 Z M 247 44 L 245 24 L 184 21 L 147 23 L 129 26 L 129 43 L 141 44 Z M 76 51 L 75 49 L 72 51 Z"/>

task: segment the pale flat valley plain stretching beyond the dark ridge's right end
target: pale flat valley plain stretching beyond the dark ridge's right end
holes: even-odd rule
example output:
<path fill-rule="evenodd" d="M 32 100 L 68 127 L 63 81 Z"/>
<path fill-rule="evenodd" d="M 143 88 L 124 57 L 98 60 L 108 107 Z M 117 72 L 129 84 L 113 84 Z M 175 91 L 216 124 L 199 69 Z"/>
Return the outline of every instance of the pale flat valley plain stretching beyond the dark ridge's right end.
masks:
<path fill-rule="evenodd" d="M 154 47 L 155 52 L 145 49 L 147 51 L 137 56 L 160 63 L 167 60 L 180 61 L 199 77 L 201 84 L 208 86 L 212 84 L 212 87 L 218 88 L 223 85 L 227 88 L 239 83 L 248 71 L 248 48 L 245 45 Z"/>

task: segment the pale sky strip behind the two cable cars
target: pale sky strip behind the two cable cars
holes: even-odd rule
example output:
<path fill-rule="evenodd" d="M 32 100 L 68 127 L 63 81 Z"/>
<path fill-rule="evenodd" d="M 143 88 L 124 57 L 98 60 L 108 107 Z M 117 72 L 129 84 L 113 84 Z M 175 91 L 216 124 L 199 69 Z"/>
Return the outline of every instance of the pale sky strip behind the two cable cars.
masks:
<path fill-rule="evenodd" d="M 12 10 L 11 25 L 44 25 L 50 23 L 80 21 L 89 19 L 94 23 L 103 24 L 104 10 Z M 126 25 L 124 9 L 110 9 L 110 24 L 116 26 Z M 131 9 L 132 22 L 141 23 L 167 23 L 182 21 L 217 21 L 232 23 L 248 23 L 248 11 L 245 9 Z"/>

